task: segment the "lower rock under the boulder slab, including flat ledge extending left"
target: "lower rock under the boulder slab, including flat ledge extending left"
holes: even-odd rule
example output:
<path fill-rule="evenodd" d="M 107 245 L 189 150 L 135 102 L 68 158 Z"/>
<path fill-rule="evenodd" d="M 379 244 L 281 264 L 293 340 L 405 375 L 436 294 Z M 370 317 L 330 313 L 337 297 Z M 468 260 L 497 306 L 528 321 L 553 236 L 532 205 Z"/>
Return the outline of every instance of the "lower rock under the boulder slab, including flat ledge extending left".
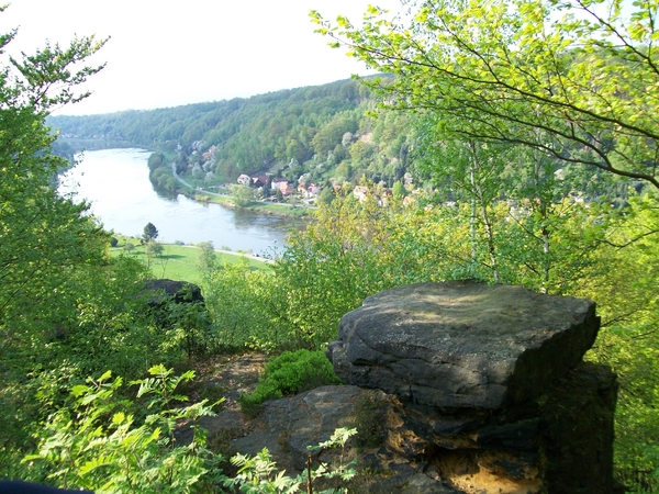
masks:
<path fill-rule="evenodd" d="M 355 492 L 608 493 L 616 390 L 608 368 L 581 363 L 537 401 L 461 415 L 379 390 L 323 386 L 266 402 L 232 447 L 249 454 L 267 447 L 280 469 L 295 474 L 304 469 L 306 446 L 338 427 L 357 427 L 378 440 L 350 440 L 343 451 L 343 461 L 356 458 L 362 472 L 350 482 Z M 375 406 L 365 409 L 365 402 Z M 338 456 L 325 451 L 317 460 L 332 463 Z"/>

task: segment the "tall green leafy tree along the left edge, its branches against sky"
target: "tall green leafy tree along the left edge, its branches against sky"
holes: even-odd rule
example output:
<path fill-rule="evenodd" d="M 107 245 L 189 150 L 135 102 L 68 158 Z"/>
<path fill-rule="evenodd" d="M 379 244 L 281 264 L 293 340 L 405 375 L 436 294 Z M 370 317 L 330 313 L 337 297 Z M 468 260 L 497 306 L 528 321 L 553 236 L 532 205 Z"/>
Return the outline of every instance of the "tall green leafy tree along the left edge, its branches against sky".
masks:
<path fill-rule="evenodd" d="M 0 8 L 3 12 L 5 7 Z M 85 60 L 104 41 L 46 44 L 34 55 L 10 57 L 12 31 L 0 36 L 0 351 L 53 327 L 62 288 L 85 267 L 102 265 L 109 235 L 88 214 L 87 203 L 60 197 L 57 170 L 70 166 L 51 153 L 56 139 L 46 125 L 55 108 L 88 96 L 77 86 L 100 67 Z M 63 307 L 60 307 L 64 310 Z M 23 338 L 23 336 L 26 336 Z"/>

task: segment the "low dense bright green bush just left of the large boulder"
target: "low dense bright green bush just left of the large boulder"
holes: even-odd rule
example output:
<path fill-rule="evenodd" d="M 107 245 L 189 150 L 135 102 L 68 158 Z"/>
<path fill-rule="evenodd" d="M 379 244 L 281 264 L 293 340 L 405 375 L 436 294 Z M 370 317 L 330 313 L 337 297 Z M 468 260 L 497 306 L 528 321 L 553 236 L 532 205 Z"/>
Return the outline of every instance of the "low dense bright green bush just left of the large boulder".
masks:
<path fill-rule="evenodd" d="M 280 398 L 326 384 L 340 384 L 340 380 L 323 351 L 284 351 L 268 362 L 254 392 L 242 394 L 238 402 L 244 413 L 256 415 L 266 400 Z"/>

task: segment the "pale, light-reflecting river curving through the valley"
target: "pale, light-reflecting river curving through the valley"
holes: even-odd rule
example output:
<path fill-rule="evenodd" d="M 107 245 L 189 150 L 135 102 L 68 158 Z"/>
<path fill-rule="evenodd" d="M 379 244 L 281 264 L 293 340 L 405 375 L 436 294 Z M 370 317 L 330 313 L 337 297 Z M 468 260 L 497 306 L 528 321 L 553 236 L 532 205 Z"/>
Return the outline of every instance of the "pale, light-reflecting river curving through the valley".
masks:
<path fill-rule="evenodd" d="M 88 200 L 105 229 L 118 234 L 139 237 L 150 222 L 164 243 L 211 240 L 216 248 L 266 255 L 283 248 L 291 225 L 281 217 L 158 193 L 148 179 L 149 154 L 142 149 L 86 151 L 82 161 L 60 179 L 59 190 Z"/>

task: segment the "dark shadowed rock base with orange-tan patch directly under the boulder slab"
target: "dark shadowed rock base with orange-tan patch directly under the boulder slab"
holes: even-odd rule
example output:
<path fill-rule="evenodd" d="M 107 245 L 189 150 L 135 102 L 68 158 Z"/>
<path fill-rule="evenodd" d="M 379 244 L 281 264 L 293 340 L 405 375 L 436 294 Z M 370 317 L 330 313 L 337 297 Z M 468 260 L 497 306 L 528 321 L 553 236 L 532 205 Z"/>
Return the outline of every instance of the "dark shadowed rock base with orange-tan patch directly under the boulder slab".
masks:
<path fill-rule="evenodd" d="M 399 425 L 387 423 L 386 444 L 466 492 L 607 493 L 616 394 L 611 369 L 582 362 L 535 400 L 498 411 L 393 405 Z"/>

